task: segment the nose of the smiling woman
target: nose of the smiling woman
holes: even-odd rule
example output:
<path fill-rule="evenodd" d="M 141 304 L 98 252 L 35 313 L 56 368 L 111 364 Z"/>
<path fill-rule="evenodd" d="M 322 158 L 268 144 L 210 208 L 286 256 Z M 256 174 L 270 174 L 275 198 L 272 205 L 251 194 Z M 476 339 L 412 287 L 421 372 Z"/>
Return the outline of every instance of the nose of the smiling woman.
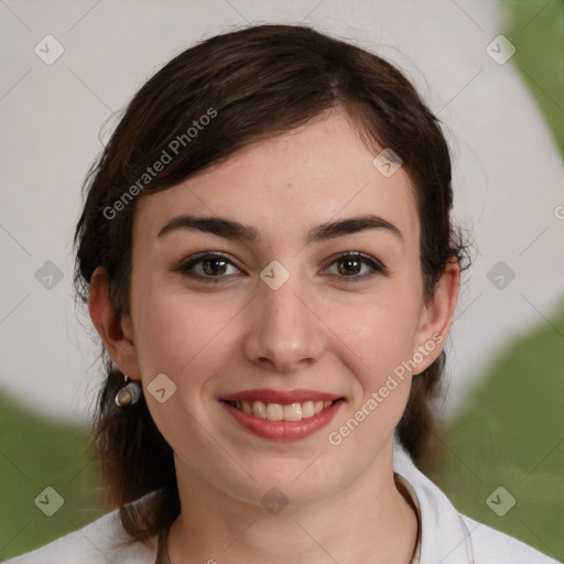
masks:
<path fill-rule="evenodd" d="M 252 362 L 283 373 L 314 364 L 325 346 L 325 325 L 293 278 L 278 290 L 259 283 L 245 341 Z"/>

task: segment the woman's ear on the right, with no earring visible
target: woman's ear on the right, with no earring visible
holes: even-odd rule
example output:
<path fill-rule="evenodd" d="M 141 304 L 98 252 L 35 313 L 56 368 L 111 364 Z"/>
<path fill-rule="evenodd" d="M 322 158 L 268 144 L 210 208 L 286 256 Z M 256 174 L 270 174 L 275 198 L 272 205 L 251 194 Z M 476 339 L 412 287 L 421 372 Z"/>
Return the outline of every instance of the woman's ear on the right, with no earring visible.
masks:
<path fill-rule="evenodd" d="M 425 303 L 415 336 L 413 358 L 423 357 L 416 362 L 413 375 L 423 372 L 441 355 L 453 323 L 458 290 L 460 288 L 460 267 L 457 260 L 447 263 L 438 280 L 435 292 Z"/>

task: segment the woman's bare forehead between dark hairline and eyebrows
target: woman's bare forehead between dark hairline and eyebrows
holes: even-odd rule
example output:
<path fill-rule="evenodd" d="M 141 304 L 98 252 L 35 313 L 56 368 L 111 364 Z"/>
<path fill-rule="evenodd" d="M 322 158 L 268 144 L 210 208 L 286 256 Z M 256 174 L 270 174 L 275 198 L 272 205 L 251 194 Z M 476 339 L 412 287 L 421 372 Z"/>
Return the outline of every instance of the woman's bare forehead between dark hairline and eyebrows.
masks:
<path fill-rule="evenodd" d="M 410 178 L 401 167 L 384 176 L 373 165 L 375 155 L 346 116 L 335 113 L 248 145 L 177 186 L 143 196 L 134 238 L 156 238 L 171 218 L 187 213 L 231 217 L 276 240 L 328 220 L 377 214 L 417 243 Z"/>

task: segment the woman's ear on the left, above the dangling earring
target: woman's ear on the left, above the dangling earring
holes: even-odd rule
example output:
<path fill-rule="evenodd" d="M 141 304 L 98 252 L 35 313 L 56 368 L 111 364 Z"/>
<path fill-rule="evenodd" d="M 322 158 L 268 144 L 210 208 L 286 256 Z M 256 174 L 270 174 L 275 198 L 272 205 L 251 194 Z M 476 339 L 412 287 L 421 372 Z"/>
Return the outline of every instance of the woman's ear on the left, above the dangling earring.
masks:
<path fill-rule="evenodd" d="M 113 362 L 131 380 L 141 380 L 131 318 L 117 316 L 110 297 L 108 273 L 101 267 L 94 271 L 90 280 L 88 311 Z"/>

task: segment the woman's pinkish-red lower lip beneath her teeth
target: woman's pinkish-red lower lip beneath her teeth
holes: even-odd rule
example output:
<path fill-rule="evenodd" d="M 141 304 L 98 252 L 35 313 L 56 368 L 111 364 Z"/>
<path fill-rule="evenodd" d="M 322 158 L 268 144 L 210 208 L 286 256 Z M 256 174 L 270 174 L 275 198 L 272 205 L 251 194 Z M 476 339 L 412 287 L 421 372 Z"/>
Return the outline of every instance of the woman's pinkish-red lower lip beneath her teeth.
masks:
<path fill-rule="evenodd" d="M 315 432 L 327 426 L 340 409 L 343 400 L 334 402 L 329 408 L 321 411 L 313 417 L 300 421 L 269 421 L 245 413 L 245 411 L 240 411 L 225 401 L 221 404 L 238 423 L 260 437 L 295 441 L 313 435 Z"/>

